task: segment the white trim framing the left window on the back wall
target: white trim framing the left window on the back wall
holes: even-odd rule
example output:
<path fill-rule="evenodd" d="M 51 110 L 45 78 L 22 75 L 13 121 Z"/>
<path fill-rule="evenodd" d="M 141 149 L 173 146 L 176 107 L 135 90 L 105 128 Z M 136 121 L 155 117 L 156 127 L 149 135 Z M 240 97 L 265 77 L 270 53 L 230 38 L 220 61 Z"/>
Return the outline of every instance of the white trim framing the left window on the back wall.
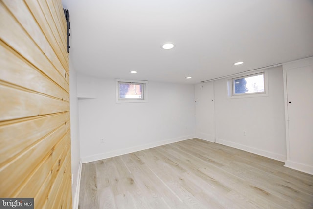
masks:
<path fill-rule="evenodd" d="M 119 83 L 127 84 L 142 84 L 142 98 L 120 98 L 119 97 Z M 139 103 L 148 102 L 148 81 L 143 80 L 125 80 L 125 79 L 115 79 L 115 90 L 116 90 L 116 103 Z"/>

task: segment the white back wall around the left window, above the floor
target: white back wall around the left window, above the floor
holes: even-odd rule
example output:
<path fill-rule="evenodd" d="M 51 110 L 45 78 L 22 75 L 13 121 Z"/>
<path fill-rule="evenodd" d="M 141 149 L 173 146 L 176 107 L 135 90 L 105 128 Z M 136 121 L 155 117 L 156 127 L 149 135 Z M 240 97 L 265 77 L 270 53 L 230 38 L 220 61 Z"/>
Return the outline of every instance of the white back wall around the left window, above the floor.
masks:
<path fill-rule="evenodd" d="M 195 137 L 193 85 L 151 81 L 149 102 L 116 103 L 115 79 L 77 79 L 83 163 Z"/>

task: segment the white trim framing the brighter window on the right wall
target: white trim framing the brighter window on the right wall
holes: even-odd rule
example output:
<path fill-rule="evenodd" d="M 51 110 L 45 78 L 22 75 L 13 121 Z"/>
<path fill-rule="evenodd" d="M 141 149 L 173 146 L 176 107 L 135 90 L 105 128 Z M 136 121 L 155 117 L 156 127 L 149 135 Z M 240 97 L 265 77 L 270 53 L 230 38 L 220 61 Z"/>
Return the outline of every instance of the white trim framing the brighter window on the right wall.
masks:
<path fill-rule="evenodd" d="M 234 79 L 240 79 L 244 77 L 250 77 L 255 76 L 258 74 L 264 74 L 264 92 L 254 92 L 254 93 L 234 93 Z M 225 78 L 227 82 L 227 99 L 236 99 L 236 98 L 251 98 L 251 97 L 262 97 L 262 96 L 269 96 L 269 90 L 268 90 L 268 69 L 264 70 L 257 70 L 253 72 L 246 72 L 246 73 L 240 73 L 228 78 Z"/>

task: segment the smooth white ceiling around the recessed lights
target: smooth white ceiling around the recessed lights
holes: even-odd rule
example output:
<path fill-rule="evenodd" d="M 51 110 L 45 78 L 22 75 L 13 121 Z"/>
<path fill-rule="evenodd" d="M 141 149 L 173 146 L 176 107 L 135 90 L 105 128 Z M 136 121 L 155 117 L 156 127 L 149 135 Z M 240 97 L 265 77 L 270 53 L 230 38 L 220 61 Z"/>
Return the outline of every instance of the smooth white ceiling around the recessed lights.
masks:
<path fill-rule="evenodd" d="M 313 56 L 313 0 L 62 2 L 70 58 L 87 75 L 198 83 Z"/>

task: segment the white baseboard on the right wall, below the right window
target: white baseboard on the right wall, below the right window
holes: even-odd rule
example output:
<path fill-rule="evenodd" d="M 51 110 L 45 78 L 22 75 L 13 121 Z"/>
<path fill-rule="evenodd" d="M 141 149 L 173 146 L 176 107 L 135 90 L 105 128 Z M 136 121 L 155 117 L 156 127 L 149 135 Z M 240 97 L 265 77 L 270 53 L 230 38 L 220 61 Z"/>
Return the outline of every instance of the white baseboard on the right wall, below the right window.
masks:
<path fill-rule="evenodd" d="M 230 146 L 230 147 L 234 147 L 236 149 L 241 149 L 241 150 L 244 150 L 244 151 L 247 151 L 247 152 L 251 152 L 251 153 L 254 153 L 254 154 L 257 154 L 257 155 L 261 155 L 261 156 L 264 156 L 264 157 L 267 157 L 267 158 L 271 158 L 271 159 L 274 159 L 274 160 L 277 160 L 277 161 L 281 161 L 281 162 L 285 162 L 286 161 L 286 156 L 284 156 L 284 155 L 273 153 L 273 152 L 268 152 L 268 151 L 265 151 L 265 150 L 262 150 L 262 149 L 257 149 L 257 148 L 254 148 L 254 147 L 249 147 L 249 146 L 238 144 L 238 143 L 235 143 L 235 142 L 226 141 L 226 140 L 223 140 L 223 139 L 216 139 L 216 143 L 223 144 L 223 145 Z"/>

